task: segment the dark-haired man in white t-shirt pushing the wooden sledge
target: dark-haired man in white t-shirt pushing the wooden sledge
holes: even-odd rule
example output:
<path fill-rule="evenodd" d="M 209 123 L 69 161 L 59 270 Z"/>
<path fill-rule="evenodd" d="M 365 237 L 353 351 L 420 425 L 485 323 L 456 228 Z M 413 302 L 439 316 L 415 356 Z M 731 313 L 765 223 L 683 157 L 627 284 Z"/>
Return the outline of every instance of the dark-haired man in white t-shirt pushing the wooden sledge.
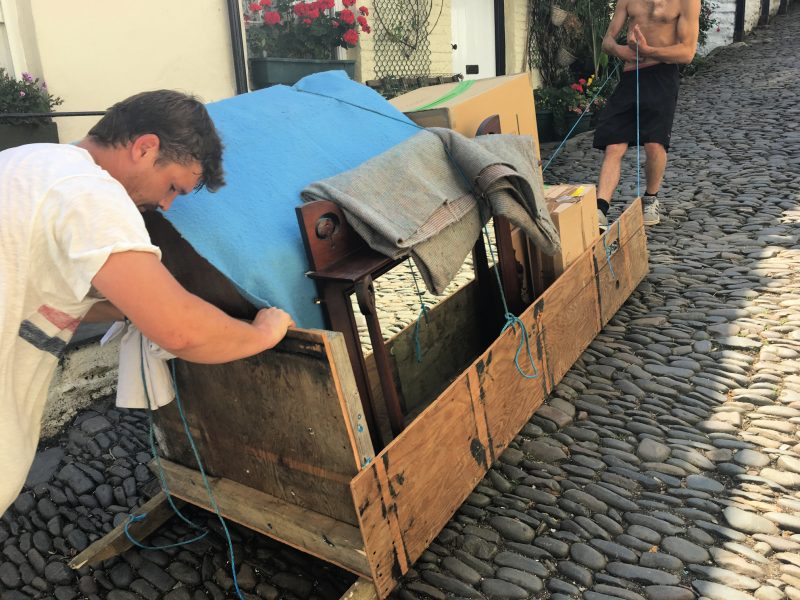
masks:
<path fill-rule="evenodd" d="M 39 442 L 47 389 L 82 320 L 129 318 L 185 360 L 227 362 L 275 346 L 294 323 L 252 323 L 187 292 L 160 262 L 141 212 L 224 185 L 205 107 L 172 91 L 111 107 L 76 145 L 0 152 L 0 515 Z"/>

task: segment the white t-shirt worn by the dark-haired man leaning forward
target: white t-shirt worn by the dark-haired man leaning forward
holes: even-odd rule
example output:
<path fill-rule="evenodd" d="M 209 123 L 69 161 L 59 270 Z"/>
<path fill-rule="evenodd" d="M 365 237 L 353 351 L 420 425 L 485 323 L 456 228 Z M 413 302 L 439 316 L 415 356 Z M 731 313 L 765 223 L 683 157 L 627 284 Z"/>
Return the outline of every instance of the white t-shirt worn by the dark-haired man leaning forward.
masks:
<path fill-rule="evenodd" d="M 0 514 L 25 483 L 64 347 L 101 299 L 92 279 L 128 250 L 161 256 L 125 188 L 87 151 L 0 152 Z"/>

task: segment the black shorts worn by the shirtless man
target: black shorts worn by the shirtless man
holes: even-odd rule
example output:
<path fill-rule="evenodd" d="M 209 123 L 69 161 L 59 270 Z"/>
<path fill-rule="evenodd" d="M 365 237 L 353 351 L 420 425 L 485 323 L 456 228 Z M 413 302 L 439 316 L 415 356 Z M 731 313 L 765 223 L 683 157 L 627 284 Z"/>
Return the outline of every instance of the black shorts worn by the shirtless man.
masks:
<path fill-rule="evenodd" d="M 658 64 L 639 69 L 639 143 L 655 142 L 669 150 L 672 119 L 678 102 L 678 65 Z M 594 147 L 636 145 L 636 71 L 625 71 L 600 113 Z"/>

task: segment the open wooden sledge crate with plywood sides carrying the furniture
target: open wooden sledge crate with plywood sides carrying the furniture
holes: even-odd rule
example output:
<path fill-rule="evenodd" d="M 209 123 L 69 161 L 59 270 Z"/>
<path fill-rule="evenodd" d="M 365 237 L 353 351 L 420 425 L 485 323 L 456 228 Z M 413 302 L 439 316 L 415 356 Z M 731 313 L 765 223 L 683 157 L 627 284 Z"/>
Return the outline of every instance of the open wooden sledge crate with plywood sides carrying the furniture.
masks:
<path fill-rule="evenodd" d="M 339 333 L 295 330 L 246 360 L 180 363 L 184 410 L 222 515 L 359 575 L 345 597 L 386 598 L 646 272 L 637 200 L 520 315 L 536 379 L 516 370 L 513 331 L 476 347 L 470 286 L 437 305 L 423 333 L 430 362 L 413 358 L 412 328 L 387 343 L 403 393 L 435 399 L 377 455 Z M 170 492 L 211 508 L 176 407 L 156 415 Z M 126 546 L 119 531 L 72 564 L 108 558 L 112 546 Z"/>

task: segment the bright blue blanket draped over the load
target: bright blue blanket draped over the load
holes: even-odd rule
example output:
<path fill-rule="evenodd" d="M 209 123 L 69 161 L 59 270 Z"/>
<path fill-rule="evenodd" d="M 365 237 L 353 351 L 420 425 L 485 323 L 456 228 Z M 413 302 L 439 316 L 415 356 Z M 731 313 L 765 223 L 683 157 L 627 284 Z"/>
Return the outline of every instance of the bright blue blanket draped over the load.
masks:
<path fill-rule="evenodd" d="M 294 210 L 300 192 L 406 140 L 417 126 L 342 71 L 207 108 L 225 144 L 227 185 L 178 198 L 166 218 L 257 307 L 278 306 L 299 327 L 322 327 Z"/>

